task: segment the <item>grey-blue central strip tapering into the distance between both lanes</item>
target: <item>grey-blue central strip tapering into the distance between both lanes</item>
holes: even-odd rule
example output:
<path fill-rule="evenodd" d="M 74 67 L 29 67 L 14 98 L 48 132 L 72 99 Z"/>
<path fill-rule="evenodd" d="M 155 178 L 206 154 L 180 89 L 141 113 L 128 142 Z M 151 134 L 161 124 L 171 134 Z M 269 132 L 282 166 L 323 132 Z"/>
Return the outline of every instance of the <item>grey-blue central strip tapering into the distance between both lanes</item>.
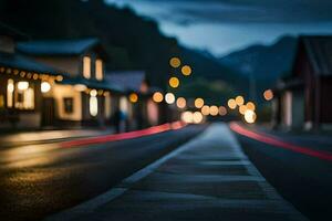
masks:
<path fill-rule="evenodd" d="M 258 172 L 227 125 L 215 124 L 104 194 L 46 220 L 307 219 Z"/>

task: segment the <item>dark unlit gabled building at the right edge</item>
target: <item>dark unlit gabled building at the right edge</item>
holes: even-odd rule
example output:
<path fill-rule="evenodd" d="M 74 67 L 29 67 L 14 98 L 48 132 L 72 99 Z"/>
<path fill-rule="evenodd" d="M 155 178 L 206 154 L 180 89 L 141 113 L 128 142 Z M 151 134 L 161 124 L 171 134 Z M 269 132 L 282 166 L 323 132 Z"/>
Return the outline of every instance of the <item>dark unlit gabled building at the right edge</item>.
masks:
<path fill-rule="evenodd" d="M 288 128 L 332 123 L 332 36 L 300 36 L 290 76 L 276 90 L 276 122 Z"/>

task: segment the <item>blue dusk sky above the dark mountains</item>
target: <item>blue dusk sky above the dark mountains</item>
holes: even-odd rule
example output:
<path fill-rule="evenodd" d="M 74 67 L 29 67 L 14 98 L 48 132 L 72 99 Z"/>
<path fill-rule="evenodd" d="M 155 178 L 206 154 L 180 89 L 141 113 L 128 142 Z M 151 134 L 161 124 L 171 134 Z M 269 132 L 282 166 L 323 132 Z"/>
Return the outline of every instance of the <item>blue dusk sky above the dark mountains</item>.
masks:
<path fill-rule="evenodd" d="M 106 0 L 158 21 L 186 46 L 224 55 L 284 34 L 332 33 L 331 0 Z"/>

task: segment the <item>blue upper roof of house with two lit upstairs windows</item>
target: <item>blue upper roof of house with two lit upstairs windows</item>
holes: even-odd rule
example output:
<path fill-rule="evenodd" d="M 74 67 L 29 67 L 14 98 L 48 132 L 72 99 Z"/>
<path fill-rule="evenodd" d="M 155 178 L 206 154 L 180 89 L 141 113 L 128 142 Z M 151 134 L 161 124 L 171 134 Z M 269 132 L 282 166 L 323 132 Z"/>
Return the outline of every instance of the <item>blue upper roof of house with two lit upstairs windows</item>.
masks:
<path fill-rule="evenodd" d="M 29 41 L 19 42 L 17 50 L 30 55 L 80 55 L 98 43 L 97 39 Z"/>

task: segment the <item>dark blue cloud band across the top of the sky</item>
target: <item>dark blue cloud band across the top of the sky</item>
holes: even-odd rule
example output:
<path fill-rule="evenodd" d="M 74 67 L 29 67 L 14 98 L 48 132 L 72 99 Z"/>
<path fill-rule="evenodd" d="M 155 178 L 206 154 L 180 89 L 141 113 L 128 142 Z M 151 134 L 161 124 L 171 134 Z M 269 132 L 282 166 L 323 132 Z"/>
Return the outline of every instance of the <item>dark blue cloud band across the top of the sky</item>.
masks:
<path fill-rule="evenodd" d="M 331 0 L 108 0 L 179 24 L 305 23 L 332 21 Z"/>

